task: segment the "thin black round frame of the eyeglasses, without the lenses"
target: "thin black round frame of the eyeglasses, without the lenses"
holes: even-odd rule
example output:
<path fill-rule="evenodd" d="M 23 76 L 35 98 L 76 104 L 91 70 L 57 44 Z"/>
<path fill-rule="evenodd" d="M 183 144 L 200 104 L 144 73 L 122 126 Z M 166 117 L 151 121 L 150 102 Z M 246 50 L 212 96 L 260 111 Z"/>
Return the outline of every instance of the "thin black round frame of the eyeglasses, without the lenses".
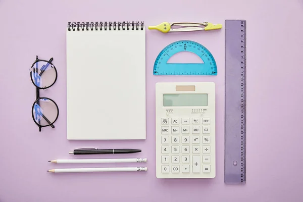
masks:
<path fill-rule="evenodd" d="M 53 124 L 57 121 L 58 116 L 59 116 L 59 108 L 58 108 L 57 103 L 56 103 L 53 99 L 51 99 L 51 98 L 48 98 L 48 97 L 40 97 L 40 92 L 39 92 L 40 89 L 47 89 L 47 88 L 49 88 L 49 87 L 52 87 L 52 86 L 56 83 L 56 81 L 57 81 L 58 72 L 57 72 L 57 69 L 56 69 L 55 65 L 52 63 L 53 60 L 54 60 L 53 58 L 49 59 L 49 61 L 41 60 L 41 59 L 38 59 L 38 56 L 36 56 L 36 60 L 35 60 L 35 62 L 34 62 L 34 63 L 32 64 L 32 66 L 31 66 L 31 68 L 33 68 L 33 70 L 30 72 L 30 79 L 31 79 L 32 83 L 34 84 L 34 86 L 36 87 L 36 100 L 35 100 L 35 102 L 34 102 L 34 104 L 33 104 L 33 106 L 32 106 L 32 110 L 31 110 L 32 113 L 31 113 L 31 114 L 32 114 L 32 118 L 33 118 L 35 124 L 39 127 L 39 132 L 41 132 L 41 128 L 46 127 L 46 126 L 51 126 L 52 128 L 55 128 L 55 126 L 54 126 Z M 49 64 L 51 65 L 51 67 L 54 68 L 54 70 L 55 70 L 55 72 L 56 72 L 56 78 L 55 78 L 54 82 L 53 82 L 51 85 L 45 86 L 45 87 L 39 87 L 39 86 L 37 86 L 37 85 L 35 84 L 35 82 L 33 81 L 32 73 L 35 73 L 35 72 L 38 73 L 38 69 L 34 67 L 34 65 L 35 65 L 37 62 L 46 62 L 46 63 L 49 63 Z M 45 70 L 42 70 L 42 71 L 39 73 L 39 76 L 41 76 L 41 75 L 43 74 L 44 71 L 45 71 Z M 45 125 L 45 126 L 40 125 L 40 120 L 39 120 L 39 123 L 37 123 L 37 122 L 35 121 L 35 117 L 34 117 L 34 114 L 33 114 L 35 104 L 37 103 L 37 104 L 39 105 L 39 100 L 40 100 L 40 99 L 43 99 L 43 98 L 51 100 L 51 101 L 56 105 L 56 108 L 57 108 L 57 117 L 56 117 L 56 119 L 55 119 L 53 122 L 50 122 L 50 121 L 42 114 L 42 118 L 48 123 L 48 125 Z"/>

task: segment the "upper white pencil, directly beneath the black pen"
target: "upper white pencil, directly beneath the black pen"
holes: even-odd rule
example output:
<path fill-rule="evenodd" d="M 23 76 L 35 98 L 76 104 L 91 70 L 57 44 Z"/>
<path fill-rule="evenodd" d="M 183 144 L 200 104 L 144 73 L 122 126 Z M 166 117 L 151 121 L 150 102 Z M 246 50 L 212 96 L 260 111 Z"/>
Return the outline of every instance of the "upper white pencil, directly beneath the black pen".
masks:
<path fill-rule="evenodd" d="M 132 158 L 132 159 L 58 159 L 48 161 L 56 164 L 93 164 L 93 163 L 133 163 L 133 162 L 147 162 L 146 158 Z"/>

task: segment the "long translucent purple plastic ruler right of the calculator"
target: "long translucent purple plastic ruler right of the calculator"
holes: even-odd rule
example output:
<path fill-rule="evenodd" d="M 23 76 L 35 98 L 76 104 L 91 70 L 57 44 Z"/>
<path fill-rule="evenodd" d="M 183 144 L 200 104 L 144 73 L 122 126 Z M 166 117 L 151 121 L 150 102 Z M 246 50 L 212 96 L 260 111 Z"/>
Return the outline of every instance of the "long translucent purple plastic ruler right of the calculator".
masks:
<path fill-rule="evenodd" d="M 246 182 L 246 21 L 225 20 L 225 183 Z"/>

